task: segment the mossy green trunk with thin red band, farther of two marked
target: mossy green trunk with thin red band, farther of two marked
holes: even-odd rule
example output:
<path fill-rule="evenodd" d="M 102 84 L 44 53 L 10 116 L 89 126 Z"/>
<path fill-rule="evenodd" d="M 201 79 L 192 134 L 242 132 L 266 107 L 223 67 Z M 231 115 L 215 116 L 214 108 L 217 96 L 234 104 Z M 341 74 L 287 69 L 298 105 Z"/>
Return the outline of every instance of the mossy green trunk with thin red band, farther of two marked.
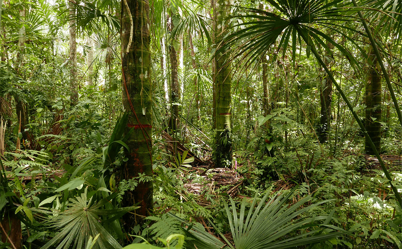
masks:
<path fill-rule="evenodd" d="M 230 1 L 212 0 L 214 44 L 222 41 L 228 33 Z M 214 151 L 215 167 L 232 165 L 232 68 L 231 58 L 222 51 L 213 58 L 213 117 L 216 130 Z"/>

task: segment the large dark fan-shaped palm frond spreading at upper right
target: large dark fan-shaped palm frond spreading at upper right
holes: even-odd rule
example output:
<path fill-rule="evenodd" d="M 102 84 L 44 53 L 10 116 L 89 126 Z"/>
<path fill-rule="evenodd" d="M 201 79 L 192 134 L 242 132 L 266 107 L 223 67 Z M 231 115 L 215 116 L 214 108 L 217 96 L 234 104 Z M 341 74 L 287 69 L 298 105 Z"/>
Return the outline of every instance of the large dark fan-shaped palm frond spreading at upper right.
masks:
<path fill-rule="evenodd" d="M 357 49 L 364 51 L 349 33 L 353 32 L 353 35 L 357 33 L 361 36 L 365 36 L 365 34 L 343 26 L 344 22 L 355 20 L 356 17 L 351 15 L 349 9 L 337 7 L 342 1 L 269 0 L 270 6 L 275 8 L 274 10 L 247 8 L 245 9 L 247 14 L 234 16 L 233 19 L 251 19 L 251 21 L 234 25 L 234 27 L 244 26 L 244 29 L 239 29 L 229 35 L 220 44 L 221 49 L 218 49 L 217 52 L 223 51 L 223 48 L 227 46 L 234 47 L 234 56 L 240 57 L 242 60 L 246 60 L 246 64 L 250 64 L 260 60 L 261 56 L 275 42 L 277 42 L 277 50 L 282 48 L 284 55 L 291 42 L 294 58 L 297 42 L 301 45 L 299 31 L 302 29 L 307 32 L 306 35 L 310 37 L 312 43 L 321 45 L 328 53 L 332 53 L 327 46 L 328 43 L 331 43 L 347 56 L 353 65 L 356 65 L 355 58 L 343 46 L 321 31 L 327 29 L 340 34 L 351 41 Z"/>

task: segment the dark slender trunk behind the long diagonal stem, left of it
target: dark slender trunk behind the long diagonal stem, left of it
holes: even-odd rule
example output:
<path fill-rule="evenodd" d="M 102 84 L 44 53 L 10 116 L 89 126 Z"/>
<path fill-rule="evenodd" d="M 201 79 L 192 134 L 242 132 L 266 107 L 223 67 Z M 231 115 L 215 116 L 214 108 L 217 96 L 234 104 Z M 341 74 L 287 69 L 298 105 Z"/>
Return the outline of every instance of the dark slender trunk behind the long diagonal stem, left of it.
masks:
<path fill-rule="evenodd" d="M 334 47 L 331 43 L 327 44 L 330 49 Z M 326 53 L 324 56 L 324 63 L 329 68 L 332 59 Z M 319 128 L 319 139 L 321 143 L 328 140 L 328 133 L 331 125 L 331 103 L 332 103 L 332 80 L 325 75 L 320 84 L 320 103 L 321 103 L 321 117 Z"/>

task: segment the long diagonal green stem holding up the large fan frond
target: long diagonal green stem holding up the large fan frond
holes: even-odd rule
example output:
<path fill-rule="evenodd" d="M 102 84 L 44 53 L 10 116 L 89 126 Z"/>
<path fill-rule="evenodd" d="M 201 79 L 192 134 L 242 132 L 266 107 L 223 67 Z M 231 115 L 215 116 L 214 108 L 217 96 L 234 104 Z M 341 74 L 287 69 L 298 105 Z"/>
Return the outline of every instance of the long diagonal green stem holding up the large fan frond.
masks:
<path fill-rule="evenodd" d="M 325 63 L 322 61 L 320 55 L 317 53 L 314 44 L 309 42 L 309 39 L 306 37 L 306 35 L 304 35 L 304 33 L 302 33 L 302 31 L 300 30 L 299 27 L 294 26 L 295 29 L 297 29 L 298 33 L 300 34 L 301 38 L 311 46 L 311 51 L 313 52 L 314 56 L 316 57 L 316 59 L 318 60 L 318 63 L 320 63 L 320 65 L 324 68 L 325 72 L 328 74 L 328 77 L 330 77 L 330 79 L 332 80 L 332 82 L 335 84 L 336 89 L 338 90 L 338 92 L 340 93 L 340 96 L 342 96 L 342 99 L 345 101 L 347 107 L 349 108 L 349 110 L 352 112 L 353 117 L 355 117 L 357 123 L 360 126 L 361 131 L 363 132 L 363 134 L 365 134 L 366 137 L 368 137 L 367 142 L 369 143 L 369 145 L 371 146 L 371 148 L 373 149 L 373 152 L 375 154 L 375 156 L 377 157 L 382 170 L 384 171 L 384 175 L 387 177 L 387 179 L 390 181 L 390 185 L 392 190 L 394 191 L 396 200 L 398 200 L 399 206 L 402 206 L 402 198 L 398 192 L 398 189 L 396 189 L 396 187 L 392 184 L 392 178 L 390 176 L 390 173 L 388 173 L 387 168 L 384 165 L 384 161 L 382 161 L 381 156 L 379 155 L 377 149 L 375 148 L 375 145 L 373 144 L 373 141 L 371 141 L 371 138 L 368 136 L 366 129 L 364 128 L 363 123 L 361 123 L 359 117 L 357 116 L 356 112 L 353 111 L 353 107 L 351 105 L 351 103 L 349 103 L 349 100 L 347 99 L 347 97 L 345 96 L 345 93 L 343 93 L 342 88 L 340 88 L 340 86 L 338 85 L 338 83 L 336 82 L 336 80 L 334 79 L 334 76 L 332 76 L 332 73 L 330 72 L 330 70 L 327 68 L 327 66 L 325 65 Z"/>

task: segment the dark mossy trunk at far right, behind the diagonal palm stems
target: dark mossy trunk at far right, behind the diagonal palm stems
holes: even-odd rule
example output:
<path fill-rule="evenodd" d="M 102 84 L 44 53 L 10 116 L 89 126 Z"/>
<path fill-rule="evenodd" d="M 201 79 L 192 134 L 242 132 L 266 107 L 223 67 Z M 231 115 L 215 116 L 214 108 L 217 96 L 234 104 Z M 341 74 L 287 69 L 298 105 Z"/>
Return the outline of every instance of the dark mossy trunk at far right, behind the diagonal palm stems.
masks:
<path fill-rule="evenodd" d="M 373 48 L 370 47 L 368 54 L 368 75 L 366 82 L 366 95 L 365 95 L 365 105 L 366 107 L 366 118 L 365 118 L 365 128 L 367 130 L 367 135 L 373 141 L 375 148 L 378 152 L 381 151 L 381 74 L 380 67 L 377 62 L 377 57 L 374 54 Z M 365 141 L 365 152 L 369 155 L 373 155 L 374 151 L 371 148 L 369 142 Z"/>

